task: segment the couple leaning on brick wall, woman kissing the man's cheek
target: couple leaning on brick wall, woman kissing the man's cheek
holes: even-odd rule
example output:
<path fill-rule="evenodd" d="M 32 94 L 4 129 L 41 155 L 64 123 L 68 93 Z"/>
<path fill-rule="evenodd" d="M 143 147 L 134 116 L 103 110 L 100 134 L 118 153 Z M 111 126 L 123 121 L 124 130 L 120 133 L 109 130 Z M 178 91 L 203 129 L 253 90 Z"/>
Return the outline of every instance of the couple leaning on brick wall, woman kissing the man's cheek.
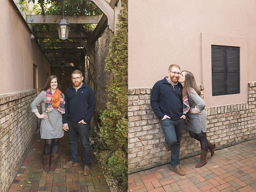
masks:
<path fill-rule="evenodd" d="M 213 156 L 215 144 L 206 138 L 205 102 L 200 97 L 201 91 L 194 75 L 189 71 L 181 72 L 177 64 L 170 65 L 168 74 L 153 86 L 150 105 L 160 119 L 166 150 L 171 150 L 171 170 L 185 175 L 179 160 L 184 121 L 188 124 L 189 135 L 200 141 L 201 145 L 201 159 L 195 167 L 207 163 L 208 149 Z"/>

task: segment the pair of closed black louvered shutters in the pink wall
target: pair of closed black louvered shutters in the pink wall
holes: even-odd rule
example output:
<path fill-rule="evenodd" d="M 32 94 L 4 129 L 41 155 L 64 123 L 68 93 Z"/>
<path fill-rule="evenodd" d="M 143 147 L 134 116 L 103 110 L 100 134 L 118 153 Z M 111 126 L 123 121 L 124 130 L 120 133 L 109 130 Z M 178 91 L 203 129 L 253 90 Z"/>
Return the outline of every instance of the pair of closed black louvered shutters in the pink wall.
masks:
<path fill-rule="evenodd" d="M 213 96 L 240 93 L 240 47 L 211 46 Z"/>

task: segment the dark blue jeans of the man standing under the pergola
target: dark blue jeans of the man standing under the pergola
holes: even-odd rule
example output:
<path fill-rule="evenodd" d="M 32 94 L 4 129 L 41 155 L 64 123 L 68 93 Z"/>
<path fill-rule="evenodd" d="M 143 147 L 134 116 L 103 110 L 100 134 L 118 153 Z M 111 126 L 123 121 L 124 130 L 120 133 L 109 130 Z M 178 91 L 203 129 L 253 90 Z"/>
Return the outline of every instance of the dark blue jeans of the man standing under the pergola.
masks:
<path fill-rule="evenodd" d="M 83 147 L 83 166 L 91 165 L 91 146 L 89 142 L 89 123 L 77 123 L 67 120 L 69 126 L 70 161 L 76 163 L 78 160 L 78 135 Z"/>

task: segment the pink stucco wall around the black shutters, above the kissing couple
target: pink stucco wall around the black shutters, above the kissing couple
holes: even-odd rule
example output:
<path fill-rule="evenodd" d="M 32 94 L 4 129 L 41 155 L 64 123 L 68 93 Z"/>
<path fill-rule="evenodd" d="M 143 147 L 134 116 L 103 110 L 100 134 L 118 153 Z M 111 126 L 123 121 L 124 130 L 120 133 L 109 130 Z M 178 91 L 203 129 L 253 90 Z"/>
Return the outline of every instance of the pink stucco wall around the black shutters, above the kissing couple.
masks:
<path fill-rule="evenodd" d="M 128 86 L 153 87 L 170 64 L 204 84 L 207 107 L 247 102 L 256 81 L 255 1 L 136 1 L 128 8 Z M 241 93 L 211 96 L 210 45 L 238 46 Z"/>

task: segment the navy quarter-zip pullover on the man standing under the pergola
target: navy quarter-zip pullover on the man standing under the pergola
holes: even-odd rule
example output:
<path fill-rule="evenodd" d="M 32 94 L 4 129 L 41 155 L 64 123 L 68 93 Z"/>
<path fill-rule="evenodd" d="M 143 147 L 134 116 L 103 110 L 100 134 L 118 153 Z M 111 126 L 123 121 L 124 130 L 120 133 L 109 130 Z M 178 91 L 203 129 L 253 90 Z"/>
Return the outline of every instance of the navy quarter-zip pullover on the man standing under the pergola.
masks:
<path fill-rule="evenodd" d="M 67 120 L 73 122 L 89 123 L 96 108 L 96 99 L 93 89 L 83 83 L 77 91 L 73 86 L 68 88 L 65 93 L 65 114 L 62 115 L 62 123 Z"/>

